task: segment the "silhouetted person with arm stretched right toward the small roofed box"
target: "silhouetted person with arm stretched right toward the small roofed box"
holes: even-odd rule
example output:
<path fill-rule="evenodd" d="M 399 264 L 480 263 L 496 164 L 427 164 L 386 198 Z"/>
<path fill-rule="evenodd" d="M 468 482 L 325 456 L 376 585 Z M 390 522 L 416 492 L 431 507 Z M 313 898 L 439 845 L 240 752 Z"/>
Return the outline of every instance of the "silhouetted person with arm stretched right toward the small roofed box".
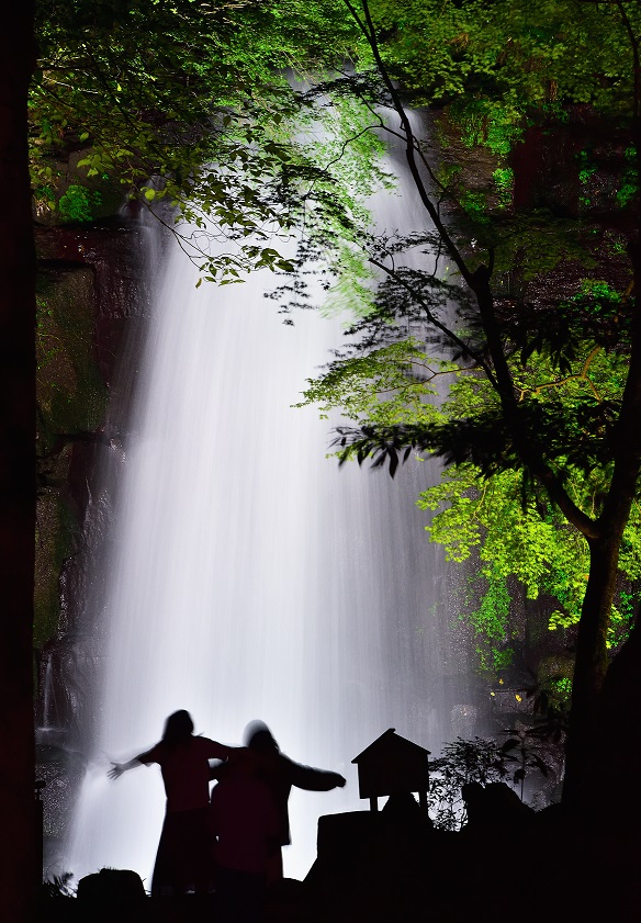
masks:
<path fill-rule="evenodd" d="M 266 783 L 273 796 L 279 818 L 278 845 L 279 847 L 286 846 L 292 842 L 288 810 L 292 786 L 307 791 L 330 791 L 333 788 L 342 788 L 345 778 L 338 773 L 314 769 L 312 766 L 294 763 L 280 752 L 271 731 L 262 721 L 252 721 L 247 725 L 245 745 L 256 757 L 257 778 Z M 271 857 L 268 881 L 278 881 L 282 877 L 282 852 L 279 848 Z"/>

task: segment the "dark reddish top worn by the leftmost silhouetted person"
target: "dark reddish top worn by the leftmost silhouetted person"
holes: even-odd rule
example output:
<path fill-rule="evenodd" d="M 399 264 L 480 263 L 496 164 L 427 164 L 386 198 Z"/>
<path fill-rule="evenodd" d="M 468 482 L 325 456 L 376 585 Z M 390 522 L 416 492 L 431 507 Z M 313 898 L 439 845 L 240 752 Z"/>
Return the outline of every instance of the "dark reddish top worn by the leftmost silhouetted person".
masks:
<path fill-rule="evenodd" d="M 210 802 L 209 759 L 225 759 L 232 747 L 209 738 L 168 746 L 164 741 L 138 756 L 140 763 L 158 763 L 167 793 L 167 813 L 206 808 Z"/>

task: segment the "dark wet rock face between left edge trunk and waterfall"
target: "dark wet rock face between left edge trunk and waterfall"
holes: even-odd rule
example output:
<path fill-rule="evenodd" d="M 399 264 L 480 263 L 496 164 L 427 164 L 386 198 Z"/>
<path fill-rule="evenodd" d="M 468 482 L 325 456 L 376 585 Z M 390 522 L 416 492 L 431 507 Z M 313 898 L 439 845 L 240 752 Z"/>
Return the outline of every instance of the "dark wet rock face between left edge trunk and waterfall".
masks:
<path fill-rule="evenodd" d="M 64 834 L 82 772 L 80 725 L 97 644 L 80 621 L 82 548 L 100 545 L 110 499 L 94 489 L 98 451 L 116 442 L 108 406 L 117 395 L 125 338 L 147 313 L 146 229 L 133 215 L 94 225 L 38 227 L 37 547 L 34 645 L 37 774 L 45 843 Z M 45 855 L 46 855 L 45 848 Z M 45 858 L 46 862 L 46 858 Z"/>

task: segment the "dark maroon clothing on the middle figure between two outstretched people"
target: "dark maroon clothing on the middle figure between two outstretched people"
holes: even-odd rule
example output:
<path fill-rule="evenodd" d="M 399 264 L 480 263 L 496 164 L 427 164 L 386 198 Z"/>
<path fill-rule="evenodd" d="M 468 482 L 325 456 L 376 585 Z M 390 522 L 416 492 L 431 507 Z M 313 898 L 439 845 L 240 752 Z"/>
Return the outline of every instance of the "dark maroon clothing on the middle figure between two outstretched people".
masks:
<path fill-rule="evenodd" d="M 218 783 L 212 792 L 211 828 L 220 865 L 236 871 L 267 870 L 278 844 L 279 817 L 265 783 L 245 776 Z"/>

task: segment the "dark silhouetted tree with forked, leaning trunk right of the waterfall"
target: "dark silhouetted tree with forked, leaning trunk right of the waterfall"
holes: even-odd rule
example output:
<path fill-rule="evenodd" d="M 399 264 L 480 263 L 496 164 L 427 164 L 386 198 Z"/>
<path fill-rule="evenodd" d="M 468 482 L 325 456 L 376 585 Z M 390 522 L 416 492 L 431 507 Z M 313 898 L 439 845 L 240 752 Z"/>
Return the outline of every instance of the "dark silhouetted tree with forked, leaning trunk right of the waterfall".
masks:
<path fill-rule="evenodd" d="M 601 717 L 600 694 L 608 671 L 607 632 L 618 559 L 623 530 L 637 497 L 641 468 L 641 316 L 634 294 L 630 294 L 641 285 L 637 198 L 615 220 L 626 239 L 630 285 L 614 326 L 611 317 L 604 315 L 595 319 L 589 315 L 589 306 L 585 311 L 580 304 L 563 323 L 559 320 L 558 311 L 537 315 L 528 312 L 527 304 L 517 304 L 515 311 L 515 306 L 506 304 L 497 292 L 492 243 L 484 247 L 483 240 L 480 246 L 476 240 L 471 248 L 464 230 L 443 218 L 441 203 L 447 199 L 447 190 L 438 181 L 425 148 L 413 132 L 397 83 L 383 58 L 379 34 L 385 30 L 376 26 L 372 10 L 380 12 L 385 4 L 366 0 L 345 2 L 370 46 L 373 70 L 382 87 L 379 103 L 386 105 L 398 119 L 397 137 L 403 139 L 416 193 L 435 227 L 436 233 L 425 235 L 423 243 L 445 255 L 459 275 L 465 333 L 439 315 L 438 305 L 442 306 L 443 302 L 438 289 L 445 286 L 431 266 L 424 271 L 398 268 L 395 252 L 401 247 L 385 250 L 380 238 L 378 249 L 370 239 L 366 256 L 382 272 L 384 281 L 373 314 L 355 329 L 360 333 L 361 342 L 364 340 L 370 348 L 381 347 L 389 342 L 390 325 L 420 319 L 428 329 L 436 330 L 454 358 L 482 373 L 494 396 L 491 406 L 482 406 L 469 416 L 447 423 L 421 420 L 415 425 L 384 425 L 361 420 L 357 428 L 342 428 L 336 444 L 342 450 L 344 460 L 357 458 L 362 462 L 369 458 L 378 466 L 389 463 L 392 474 L 413 450 L 436 452 L 446 464 L 472 462 L 487 476 L 502 470 L 521 471 L 524 489 L 538 484 L 567 524 L 585 538 L 589 549 L 589 574 L 577 628 L 563 793 L 564 801 L 571 804 L 582 791 L 595 729 Z M 593 14 L 601 13 L 593 11 Z M 390 15 L 387 13 L 387 26 Z M 625 122 L 629 126 L 629 143 L 639 176 L 641 23 L 638 4 L 610 4 L 607 15 L 606 24 L 618 31 L 621 54 L 629 60 L 630 98 Z M 429 22 L 425 27 L 429 34 Z M 576 21 L 569 27 L 577 29 Z M 363 86 L 362 80 L 360 86 Z M 413 243 L 415 246 L 416 240 Z M 525 357 L 524 364 L 527 358 L 542 354 L 558 372 L 563 372 L 574 358 L 577 341 L 583 338 L 587 342 L 591 336 L 597 344 L 599 338 L 609 337 L 608 348 L 622 350 L 628 357 L 627 376 L 616 399 L 606 405 L 595 396 L 571 406 L 562 402 L 543 405 L 538 396 L 519 390 L 514 371 L 519 353 Z M 572 493 L 572 470 L 589 472 L 596 463 L 605 466 L 607 484 L 596 508 L 586 509 Z M 632 642 L 628 645 L 629 651 L 622 657 L 626 662 L 637 648 Z M 616 674 L 616 660 L 614 663 Z"/>

